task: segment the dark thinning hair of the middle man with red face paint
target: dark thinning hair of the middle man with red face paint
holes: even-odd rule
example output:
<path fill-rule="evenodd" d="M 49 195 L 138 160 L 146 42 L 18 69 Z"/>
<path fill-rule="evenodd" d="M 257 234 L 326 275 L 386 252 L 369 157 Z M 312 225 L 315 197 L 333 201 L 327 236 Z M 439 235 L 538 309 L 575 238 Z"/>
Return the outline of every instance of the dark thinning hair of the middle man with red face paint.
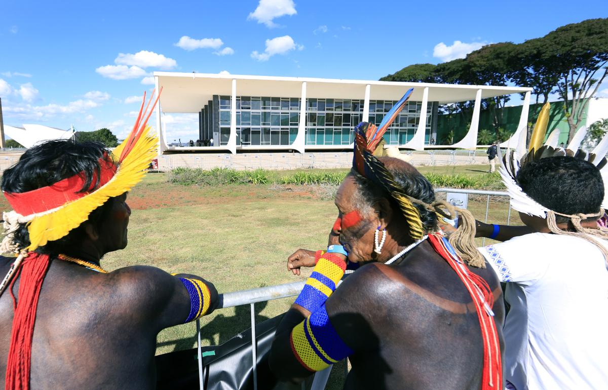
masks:
<path fill-rule="evenodd" d="M 392 157 L 381 157 L 380 160 L 387 166 L 389 172 L 393 175 L 395 182 L 402 188 L 403 192 L 407 195 L 422 200 L 426 204 L 432 204 L 435 202 L 435 191 L 433 186 L 415 168 L 412 169 L 399 169 L 402 166 L 401 160 L 393 159 Z M 396 160 L 398 163 L 387 164 L 390 160 Z M 365 179 L 354 169 L 351 169 L 351 175 L 355 178 L 359 191 L 368 205 L 371 205 L 376 200 L 384 197 L 388 199 L 390 204 L 395 210 L 401 210 L 398 203 L 389 192 L 384 189 L 383 186 L 376 185 L 371 180 Z M 423 228 L 425 231 L 436 231 L 437 230 L 437 214 L 433 211 L 427 210 L 423 205 L 414 204 L 414 207 L 418 209 L 420 213 L 420 220 L 422 221 Z"/>

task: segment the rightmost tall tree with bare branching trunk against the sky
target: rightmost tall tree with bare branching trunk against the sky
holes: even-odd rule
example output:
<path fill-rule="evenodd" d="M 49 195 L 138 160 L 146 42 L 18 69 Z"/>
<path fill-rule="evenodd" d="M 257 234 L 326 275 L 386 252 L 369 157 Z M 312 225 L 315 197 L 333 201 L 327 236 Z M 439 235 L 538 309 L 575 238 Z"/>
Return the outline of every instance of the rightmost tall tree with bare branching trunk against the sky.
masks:
<path fill-rule="evenodd" d="M 557 87 L 564 101 L 570 141 L 581 125 L 589 99 L 606 78 L 608 18 L 567 24 L 545 35 L 542 41 L 560 73 Z"/>

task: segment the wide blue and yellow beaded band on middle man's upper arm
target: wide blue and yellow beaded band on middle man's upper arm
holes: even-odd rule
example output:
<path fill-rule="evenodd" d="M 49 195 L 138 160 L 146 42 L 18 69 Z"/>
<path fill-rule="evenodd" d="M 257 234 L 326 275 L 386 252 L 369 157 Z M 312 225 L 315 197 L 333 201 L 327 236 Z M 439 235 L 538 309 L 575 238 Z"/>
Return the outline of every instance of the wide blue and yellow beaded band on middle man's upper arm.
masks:
<path fill-rule="evenodd" d="M 291 350 L 308 371 L 320 371 L 353 354 L 332 326 L 325 305 L 291 331 Z"/>

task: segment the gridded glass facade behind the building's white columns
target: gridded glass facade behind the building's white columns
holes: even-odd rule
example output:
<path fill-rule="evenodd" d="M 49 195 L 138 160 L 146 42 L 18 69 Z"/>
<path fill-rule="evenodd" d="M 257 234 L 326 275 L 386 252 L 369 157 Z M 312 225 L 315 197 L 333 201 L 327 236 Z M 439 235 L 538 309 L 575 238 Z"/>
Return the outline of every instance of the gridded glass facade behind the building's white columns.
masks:
<path fill-rule="evenodd" d="M 371 100 L 369 121 L 379 125 L 396 101 Z M 342 145 L 354 142 L 354 126 L 363 118 L 364 100 L 307 98 L 305 145 Z M 426 112 L 425 143 L 429 143 L 433 104 Z M 201 139 L 215 139 L 227 145 L 230 135 L 230 96 L 214 95 L 199 114 Z M 420 101 L 409 101 L 384 139 L 389 145 L 403 145 L 418 128 Z M 237 97 L 237 146 L 289 146 L 294 142 L 300 122 L 300 98 Z M 217 143 L 215 145 L 218 145 Z"/>

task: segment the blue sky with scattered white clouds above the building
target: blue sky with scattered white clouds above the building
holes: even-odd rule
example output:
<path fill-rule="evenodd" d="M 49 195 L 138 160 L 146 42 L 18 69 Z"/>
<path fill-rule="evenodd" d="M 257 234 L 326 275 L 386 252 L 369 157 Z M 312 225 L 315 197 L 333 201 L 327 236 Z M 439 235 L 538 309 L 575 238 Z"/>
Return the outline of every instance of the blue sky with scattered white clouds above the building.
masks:
<path fill-rule="evenodd" d="M 377 80 L 607 13 L 563 0 L 2 0 L 0 97 L 7 125 L 121 137 L 154 70 Z M 167 139 L 196 139 L 197 121 L 165 115 Z"/>

